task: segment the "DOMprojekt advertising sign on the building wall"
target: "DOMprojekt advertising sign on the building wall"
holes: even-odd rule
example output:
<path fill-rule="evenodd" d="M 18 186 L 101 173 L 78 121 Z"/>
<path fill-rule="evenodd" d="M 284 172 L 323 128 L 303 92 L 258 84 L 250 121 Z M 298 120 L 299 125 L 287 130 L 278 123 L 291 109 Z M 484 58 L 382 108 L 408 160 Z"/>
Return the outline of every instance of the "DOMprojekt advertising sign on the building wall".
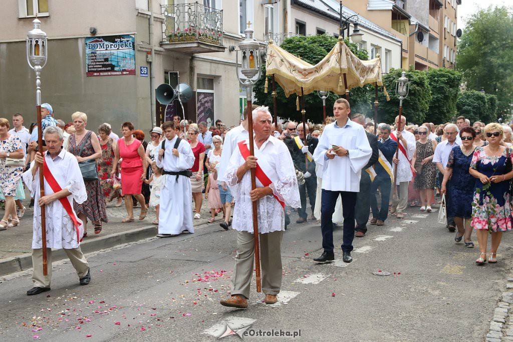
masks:
<path fill-rule="evenodd" d="M 86 75 L 135 75 L 135 36 L 86 37 Z"/>

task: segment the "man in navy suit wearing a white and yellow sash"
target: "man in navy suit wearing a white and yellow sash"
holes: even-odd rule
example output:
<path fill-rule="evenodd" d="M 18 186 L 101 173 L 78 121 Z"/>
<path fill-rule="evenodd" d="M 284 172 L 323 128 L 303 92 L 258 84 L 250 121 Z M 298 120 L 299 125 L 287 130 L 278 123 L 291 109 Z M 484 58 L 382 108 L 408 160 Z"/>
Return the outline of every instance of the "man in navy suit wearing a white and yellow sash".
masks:
<path fill-rule="evenodd" d="M 390 126 L 380 125 L 381 139 L 379 140 L 379 158 L 376 163 L 376 177 L 370 187 L 370 207 L 372 209 L 371 225 L 383 226 L 388 217 L 388 203 L 392 186 L 392 158 L 397 151 L 397 142 L 390 138 Z M 380 188 L 381 209 L 378 209 L 376 191 Z"/>

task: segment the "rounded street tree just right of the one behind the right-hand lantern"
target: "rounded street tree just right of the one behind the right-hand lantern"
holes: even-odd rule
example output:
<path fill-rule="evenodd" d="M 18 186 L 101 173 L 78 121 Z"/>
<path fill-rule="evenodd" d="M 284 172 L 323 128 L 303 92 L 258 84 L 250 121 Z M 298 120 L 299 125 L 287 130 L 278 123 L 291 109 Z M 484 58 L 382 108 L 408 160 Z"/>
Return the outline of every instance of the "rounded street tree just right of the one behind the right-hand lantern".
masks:
<path fill-rule="evenodd" d="M 425 120 L 443 124 L 456 116 L 456 101 L 460 91 L 462 75 L 451 69 L 429 69 L 427 79 L 431 88 L 431 102 Z"/>

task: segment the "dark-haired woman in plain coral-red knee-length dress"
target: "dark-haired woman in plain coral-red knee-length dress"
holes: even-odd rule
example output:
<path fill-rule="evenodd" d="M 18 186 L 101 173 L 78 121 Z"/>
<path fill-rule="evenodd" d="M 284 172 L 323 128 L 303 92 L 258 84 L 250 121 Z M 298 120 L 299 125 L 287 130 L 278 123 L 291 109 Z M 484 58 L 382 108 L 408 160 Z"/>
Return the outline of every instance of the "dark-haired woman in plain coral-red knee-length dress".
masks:
<path fill-rule="evenodd" d="M 125 207 L 128 214 L 126 218 L 121 220 L 123 223 L 134 222 L 132 196 L 141 205 L 140 220 L 146 217 L 148 211 L 148 207 L 144 203 L 144 196 L 141 194 L 143 179 L 146 178 L 144 173 L 146 158 L 143 145 L 132 136 L 133 128 L 131 122 L 123 123 L 121 126 L 123 137 L 117 140 L 117 149 L 114 151 L 114 166 L 111 172 L 111 176 L 116 174 L 117 162 L 121 157 L 121 191 L 125 196 Z"/>

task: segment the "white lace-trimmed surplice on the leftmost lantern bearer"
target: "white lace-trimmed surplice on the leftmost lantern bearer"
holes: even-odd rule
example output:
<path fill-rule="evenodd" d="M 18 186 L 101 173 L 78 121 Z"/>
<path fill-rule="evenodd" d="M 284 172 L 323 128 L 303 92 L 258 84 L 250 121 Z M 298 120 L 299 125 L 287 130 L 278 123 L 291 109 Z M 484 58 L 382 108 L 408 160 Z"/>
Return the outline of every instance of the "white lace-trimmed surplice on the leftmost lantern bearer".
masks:
<path fill-rule="evenodd" d="M 45 153 L 46 163 L 53 177 L 57 183 L 61 186 L 61 189 L 67 189 L 71 192 L 71 195 L 67 197 L 73 208 L 73 201 L 76 203 L 84 203 L 87 199 L 86 186 L 84 185 L 84 178 L 78 162 L 73 154 L 66 150 L 62 150 L 53 160 L 48 153 Z M 32 163 L 32 166 L 35 163 Z M 23 173 L 23 181 L 30 190 L 31 196 L 34 196 L 34 201 L 40 198 L 40 187 L 39 187 L 39 170 L 36 171 L 34 177 L 32 177 L 32 168 Z M 53 194 L 52 188 L 48 185 L 45 177 L 45 194 Z M 77 248 L 80 240 L 84 234 L 84 225 L 78 226 L 78 237 L 73 221 L 69 214 L 64 209 L 60 200 L 54 200 L 50 204 L 45 206 L 46 209 L 46 247 L 55 249 L 71 249 Z M 74 212 L 74 210 L 73 210 Z M 75 213 L 78 223 L 82 223 L 80 218 Z M 32 222 L 33 237 L 32 237 L 32 248 L 38 249 L 43 248 L 43 238 L 41 231 L 41 207 L 34 206 L 34 219 Z"/>

